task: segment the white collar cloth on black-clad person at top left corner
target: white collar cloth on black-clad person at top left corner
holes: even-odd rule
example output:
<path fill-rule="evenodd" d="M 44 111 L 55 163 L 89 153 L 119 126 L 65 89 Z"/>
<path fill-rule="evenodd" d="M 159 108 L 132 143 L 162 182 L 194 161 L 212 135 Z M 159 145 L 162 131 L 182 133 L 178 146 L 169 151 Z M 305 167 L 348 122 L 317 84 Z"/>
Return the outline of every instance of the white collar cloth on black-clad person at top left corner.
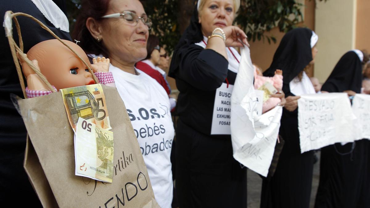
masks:
<path fill-rule="evenodd" d="M 68 19 L 62 10 L 52 0 L 31 0 L 38 10 L 56 28 L 69 33 Z"/>

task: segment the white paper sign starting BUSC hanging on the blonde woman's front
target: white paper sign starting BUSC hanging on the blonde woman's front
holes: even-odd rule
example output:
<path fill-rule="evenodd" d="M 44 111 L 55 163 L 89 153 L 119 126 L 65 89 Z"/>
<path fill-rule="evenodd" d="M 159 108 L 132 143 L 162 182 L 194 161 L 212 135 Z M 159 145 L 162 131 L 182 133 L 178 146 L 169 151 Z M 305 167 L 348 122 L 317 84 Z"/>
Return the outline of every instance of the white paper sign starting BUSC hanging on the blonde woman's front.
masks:
<path fill-rule="evenodd" d="M 215 105 L 213 106 L 211 134 L 231 134 L 230 111 L 233 85 L 222 83 L 216 90 Z"/>

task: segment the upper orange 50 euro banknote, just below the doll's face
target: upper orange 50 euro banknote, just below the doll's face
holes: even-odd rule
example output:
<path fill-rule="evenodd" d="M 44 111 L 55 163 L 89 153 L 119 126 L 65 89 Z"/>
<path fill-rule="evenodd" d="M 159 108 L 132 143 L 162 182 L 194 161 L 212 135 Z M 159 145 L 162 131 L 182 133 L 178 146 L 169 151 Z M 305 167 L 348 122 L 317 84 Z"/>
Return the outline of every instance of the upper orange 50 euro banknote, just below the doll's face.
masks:
<path fill-rule="evenodd" d="M 84 85 L 60 90 L 67 111 L 68 120 L 76 133 L 78 118 L 96 124 L 98 127 L 110 130 L 105 95 L 101 84 Z"/>

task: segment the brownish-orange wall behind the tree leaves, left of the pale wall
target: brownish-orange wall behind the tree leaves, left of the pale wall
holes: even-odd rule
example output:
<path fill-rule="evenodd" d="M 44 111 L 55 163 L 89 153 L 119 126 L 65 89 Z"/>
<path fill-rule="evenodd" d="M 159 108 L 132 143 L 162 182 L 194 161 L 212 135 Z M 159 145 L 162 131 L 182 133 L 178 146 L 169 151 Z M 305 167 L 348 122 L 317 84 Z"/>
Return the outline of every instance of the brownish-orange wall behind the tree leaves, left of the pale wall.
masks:
<path fill-rule="evenodd" d="M 303 23 L 300 23 L 299 26 L 308 27 L 313 30 L 315 24 L 315 1 L 305 0 L 304 4 L 304 21 Z M 268 36 L 273 35 L 274 37 L 276 37 L 276 43 L 269 44 L 267 40 L 265 42 L 256 41 L 249 43 L 250 57 L 252 58 L 252 62 L 261 67 L 263 71 L 270 67 L 274 53 L 285 33 L 280 32 L 279 28 L 276 27 L 273 28 L 271 31 L 266 32 L 265 34 Z"/>

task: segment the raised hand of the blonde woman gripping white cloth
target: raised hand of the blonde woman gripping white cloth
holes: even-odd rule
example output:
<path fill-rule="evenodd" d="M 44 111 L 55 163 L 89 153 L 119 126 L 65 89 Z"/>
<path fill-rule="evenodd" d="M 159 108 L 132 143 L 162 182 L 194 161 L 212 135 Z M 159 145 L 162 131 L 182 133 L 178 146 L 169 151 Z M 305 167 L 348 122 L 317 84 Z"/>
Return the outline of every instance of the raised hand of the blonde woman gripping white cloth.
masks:
<path fill-rule="evenodd" d="M 249 47 L 247 35 L 239 27 L 227 26 L 222 28 L 222 30 L 226 36 L 225 41 L 226 47 L 243 47 L 243 44 L 240 43 L 240 40 Z"/>

